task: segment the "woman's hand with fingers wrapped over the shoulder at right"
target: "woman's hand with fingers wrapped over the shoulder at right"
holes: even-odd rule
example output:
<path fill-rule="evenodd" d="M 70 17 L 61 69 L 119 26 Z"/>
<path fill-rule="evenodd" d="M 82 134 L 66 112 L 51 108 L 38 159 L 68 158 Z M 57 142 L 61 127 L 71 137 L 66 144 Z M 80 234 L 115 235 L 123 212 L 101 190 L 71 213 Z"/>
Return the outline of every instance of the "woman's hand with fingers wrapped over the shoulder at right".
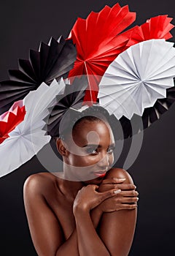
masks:
<path fill-rule="evenodd" d="M 123 184 L 123 181 L 125 181 L 125 178 L 107 178 L 101 183 L 98 192 L 105 192 L 109 189 L 122 190 L 119 195 L 107 198 L 98 206 L 102 212 L 131 210 L 137 207 L 136 202 L 139 200 L 139 193 L 135 190 L 136 186 Z"/>

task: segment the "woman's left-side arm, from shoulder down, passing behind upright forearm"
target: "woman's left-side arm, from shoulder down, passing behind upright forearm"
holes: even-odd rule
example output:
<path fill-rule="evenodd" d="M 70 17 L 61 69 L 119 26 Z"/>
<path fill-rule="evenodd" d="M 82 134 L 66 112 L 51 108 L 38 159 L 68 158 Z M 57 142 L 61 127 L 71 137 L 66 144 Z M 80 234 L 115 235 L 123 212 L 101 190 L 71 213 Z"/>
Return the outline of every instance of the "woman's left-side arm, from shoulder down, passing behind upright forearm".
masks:
<path fill-rule="evenodd" d="M 63 232 L 58 218 L 44 198 L 44 189 L 50 189 L 47 178 L 35 174 L 27 178 L 24 185 L 24 203 L 28 225 L 34 247 L 39 256 L 79 256 L 76 227 L 71 236 L 63 241 Z M 94 227 L 98 225 L 102 212 L 92 211 Z"/>

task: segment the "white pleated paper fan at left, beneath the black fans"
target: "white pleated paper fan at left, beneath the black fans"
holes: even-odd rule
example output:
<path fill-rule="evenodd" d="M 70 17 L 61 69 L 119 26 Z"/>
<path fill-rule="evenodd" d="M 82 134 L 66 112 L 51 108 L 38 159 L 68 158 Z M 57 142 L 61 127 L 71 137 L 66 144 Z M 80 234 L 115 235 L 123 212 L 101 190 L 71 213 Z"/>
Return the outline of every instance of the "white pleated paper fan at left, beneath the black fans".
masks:
<path fill-rule="evenodd" d="M 62 94 L 65 83 L 53 80 L 50 86 L 42 83 L 36 91 L 31 91 L 23 104 L 26 106 L 24 121 L 9 134 L 9 138 L 0 144 L 0 176 L 4 176 L 27 162 L 34 154 L 50 141 L 42 130 L 44 121 L 52 105 L 55 105 L 56 94 Z M 9 159 L 11 159 L 9 161 Z"/>

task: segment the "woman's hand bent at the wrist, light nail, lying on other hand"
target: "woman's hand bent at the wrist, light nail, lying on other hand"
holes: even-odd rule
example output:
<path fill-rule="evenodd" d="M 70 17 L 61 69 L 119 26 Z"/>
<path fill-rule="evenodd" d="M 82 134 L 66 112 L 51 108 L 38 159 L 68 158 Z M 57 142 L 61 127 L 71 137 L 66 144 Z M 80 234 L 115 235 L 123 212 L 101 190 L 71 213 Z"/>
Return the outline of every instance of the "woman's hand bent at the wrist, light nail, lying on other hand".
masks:
<path fill-rule="evenodd" d="M 120 189 L 116 189 L 114 187 L 105 192 L 97 192 L 96 189 L 98 189 L 97 185 L 90 184 L 87 187 L 82 187 L 82 189 L 79 190 L 74 200 L 74 214 L 77 210 L 90 211 L 107 198 L 117 197 L 117 194 L 120 194 L 121 192 Z"/>

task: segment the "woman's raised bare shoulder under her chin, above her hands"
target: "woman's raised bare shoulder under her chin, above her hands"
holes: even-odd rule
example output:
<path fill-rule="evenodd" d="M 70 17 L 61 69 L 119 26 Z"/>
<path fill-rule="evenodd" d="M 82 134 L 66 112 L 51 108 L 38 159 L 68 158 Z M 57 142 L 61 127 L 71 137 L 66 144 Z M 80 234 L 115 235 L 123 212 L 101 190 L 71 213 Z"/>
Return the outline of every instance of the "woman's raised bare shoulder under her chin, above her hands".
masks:
<path fill-rule="evenodd" d="M 133 179 L 131 178 L 131 175 L 122 168 L 112 168 L 107 173 L 105 178 L 125 178 L 126 180 L 124 183 L 132 183 Z"/>

